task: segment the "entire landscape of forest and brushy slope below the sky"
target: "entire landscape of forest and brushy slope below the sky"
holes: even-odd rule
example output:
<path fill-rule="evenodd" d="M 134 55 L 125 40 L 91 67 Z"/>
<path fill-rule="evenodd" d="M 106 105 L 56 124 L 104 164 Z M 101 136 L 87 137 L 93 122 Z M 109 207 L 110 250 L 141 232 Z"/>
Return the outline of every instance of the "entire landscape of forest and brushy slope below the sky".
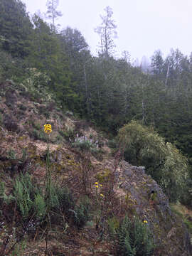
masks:
<path fill-rule="evenodd" d="M 191 57 L 114 58 L 105 12 L 95 57 L 0 0 L 2 256 L 192 253 Z"/>

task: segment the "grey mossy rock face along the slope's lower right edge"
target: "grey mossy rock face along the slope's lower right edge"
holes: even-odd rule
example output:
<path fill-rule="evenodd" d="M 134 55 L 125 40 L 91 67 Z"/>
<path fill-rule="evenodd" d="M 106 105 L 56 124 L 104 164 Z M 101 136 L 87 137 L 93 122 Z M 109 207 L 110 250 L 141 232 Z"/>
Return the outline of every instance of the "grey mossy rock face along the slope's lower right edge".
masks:
<path fill-rule="evenodd" d="M 147 220 L 159 248 L 156 255 L 191 255 L 188 231 L 181 220 L 178 221 L 176 215 L 171 213 L 169 200 L 156 181 L 145 174 L 143 166 L 131 166 L 126 161 L 121 164 L 119 188 L 127 194 L 132 214 Z"/>

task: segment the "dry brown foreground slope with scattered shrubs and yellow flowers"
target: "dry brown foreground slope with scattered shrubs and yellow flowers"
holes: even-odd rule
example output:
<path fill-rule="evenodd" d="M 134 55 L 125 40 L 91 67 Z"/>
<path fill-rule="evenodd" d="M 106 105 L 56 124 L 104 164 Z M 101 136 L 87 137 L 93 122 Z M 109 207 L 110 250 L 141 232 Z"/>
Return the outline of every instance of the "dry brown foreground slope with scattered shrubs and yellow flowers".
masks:
<path fill-rule="evenodd" d="M 63 201 L 50 210 L 48 255 L 126 255 L 122 239 L 128 239 L 127 230 L 132 249 L 137 248 L 134 255 L 191 255 L 186 225 L 144 167 L 114 154 L 92 124 L 64 114 L 49 97 L 33 95 L 25 85 L 1 82 L 0 255 L 44 255 L 48 223 L 38 215 L 43 203 L 29 193 L 28 209 L 22 211 L 26 205 L 18 201 L 14 184 L 29 174 L 34 189 L 45 195 L 47 123 L 53 129 L 51 180 L 64 191 Z M 128 229 L 132 225 L 136 233 Z"/>

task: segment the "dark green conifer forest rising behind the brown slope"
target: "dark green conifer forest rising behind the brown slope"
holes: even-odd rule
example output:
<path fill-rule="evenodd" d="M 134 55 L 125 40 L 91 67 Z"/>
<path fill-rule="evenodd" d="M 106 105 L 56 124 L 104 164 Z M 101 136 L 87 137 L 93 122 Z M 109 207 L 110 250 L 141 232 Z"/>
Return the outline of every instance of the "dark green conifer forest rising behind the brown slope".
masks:
<path fill-rule="evenodd" d="M 38 82 L 54 92 L 65 110 L 90 120 L 110 134 L 141 120 L 174 143 L 192 162 L 192 54 L 160 50 L 149 72 L 134 67 L 127 54 L 114 58 L 116 25 L 108 6 L 101 24 L 98 56 L 90 53 L 80 31 L 60 28 L 58 1 L 47 2 L 47 23 L 29 18 L 20 0 L 0 0 L 0 80 L 22 82 L 36 69 L 48 76 Z"/>

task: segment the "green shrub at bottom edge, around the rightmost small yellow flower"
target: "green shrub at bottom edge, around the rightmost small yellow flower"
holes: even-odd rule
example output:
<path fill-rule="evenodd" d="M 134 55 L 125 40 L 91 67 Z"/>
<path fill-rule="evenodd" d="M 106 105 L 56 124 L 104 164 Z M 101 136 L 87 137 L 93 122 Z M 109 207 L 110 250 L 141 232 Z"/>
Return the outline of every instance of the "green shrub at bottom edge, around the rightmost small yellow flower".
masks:
<path fill-rule="evenodd" d="M 125 216 L 117 229 L 117 241 L 119 253 L 122 256 L 153 255 L 153 237 L 146 224 L 142 223 L 138 218 L 131 222 Z"/>

